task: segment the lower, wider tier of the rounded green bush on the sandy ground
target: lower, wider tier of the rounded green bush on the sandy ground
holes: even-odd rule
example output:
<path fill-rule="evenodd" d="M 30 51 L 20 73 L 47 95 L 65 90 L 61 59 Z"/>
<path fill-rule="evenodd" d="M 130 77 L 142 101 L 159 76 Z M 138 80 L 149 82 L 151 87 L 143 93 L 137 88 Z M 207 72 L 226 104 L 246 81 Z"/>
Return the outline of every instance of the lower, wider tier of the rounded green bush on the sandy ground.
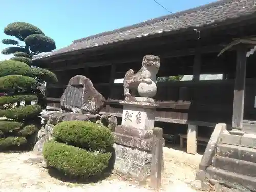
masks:
<path fill-rule="evenodd" d="M 82 178 L 100 175 L 108 167 L 111 157 L 111 153 L 97 154 L 55 141 L 45 143 L 43 154 L 49 167 Z"/>

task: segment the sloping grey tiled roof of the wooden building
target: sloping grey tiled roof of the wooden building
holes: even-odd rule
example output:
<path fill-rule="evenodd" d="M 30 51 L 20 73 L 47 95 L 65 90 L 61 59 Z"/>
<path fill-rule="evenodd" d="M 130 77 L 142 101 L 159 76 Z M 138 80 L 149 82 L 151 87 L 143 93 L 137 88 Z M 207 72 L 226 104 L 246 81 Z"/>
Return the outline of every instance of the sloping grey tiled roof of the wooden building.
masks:
<path fill-rule="evenodd" d="M 116 29 L 74 40 L 71 45 L 44 55 L 37 55 L 34 59 L 88 49 L 124 40 L 166 33 L 186 28 L 208 26 L 227 19 L 234 19 L 256 12 L 256 0 L 221 0 L 197 8 L 147 20 L 132 26 Z"/>

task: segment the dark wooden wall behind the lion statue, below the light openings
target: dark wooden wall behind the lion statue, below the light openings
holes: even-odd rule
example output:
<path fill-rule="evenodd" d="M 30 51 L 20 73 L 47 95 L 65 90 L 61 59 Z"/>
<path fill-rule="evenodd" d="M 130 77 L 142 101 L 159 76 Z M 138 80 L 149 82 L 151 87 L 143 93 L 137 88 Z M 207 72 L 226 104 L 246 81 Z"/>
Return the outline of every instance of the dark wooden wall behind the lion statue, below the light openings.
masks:
<path fill-rule="evenodd" d="M 108 105 L 101 113 L 122 115 L 123 85 L 115 84 L 112 90 L 107 85 L 95 88 L 108 98 Z M 245 120 L 256 120 L 254 97 L 256 79 L 246 79 Z M 156 100 L 158 108 L 156 120 L 162 122 L 187 124 L 194 122 L 201 126 L 215 126 L 216 123 L 232 122 L 234 80 L 159 82 Z"/>

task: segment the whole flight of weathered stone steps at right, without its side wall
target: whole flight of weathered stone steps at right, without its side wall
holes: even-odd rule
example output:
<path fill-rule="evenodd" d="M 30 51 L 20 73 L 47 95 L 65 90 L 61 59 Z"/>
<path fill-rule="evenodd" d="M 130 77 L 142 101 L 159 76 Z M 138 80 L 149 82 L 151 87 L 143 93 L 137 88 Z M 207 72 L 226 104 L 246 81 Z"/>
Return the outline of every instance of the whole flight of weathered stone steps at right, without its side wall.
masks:
<path fill-rule="evenodd" d="M 206 175 L 230 188 L 256 191 L 256 136 L 221 134 Z"/>

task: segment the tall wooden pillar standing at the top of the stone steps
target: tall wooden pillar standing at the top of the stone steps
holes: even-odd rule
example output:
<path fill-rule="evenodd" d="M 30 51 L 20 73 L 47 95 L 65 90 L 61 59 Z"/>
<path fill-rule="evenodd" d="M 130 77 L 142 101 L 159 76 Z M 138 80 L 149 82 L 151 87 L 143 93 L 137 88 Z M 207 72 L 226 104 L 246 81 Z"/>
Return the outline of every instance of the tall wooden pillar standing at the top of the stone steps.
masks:
<path fill-rule="evenodd" d="M 244 119 L 244 92 L 246 80 L 246 49 L 243 46 L 237 48 L 236 77 L 234 80 L 234 101 L 233 101 L 233 118 L 232 130 L 230 134 L 243 135 Z"/>

